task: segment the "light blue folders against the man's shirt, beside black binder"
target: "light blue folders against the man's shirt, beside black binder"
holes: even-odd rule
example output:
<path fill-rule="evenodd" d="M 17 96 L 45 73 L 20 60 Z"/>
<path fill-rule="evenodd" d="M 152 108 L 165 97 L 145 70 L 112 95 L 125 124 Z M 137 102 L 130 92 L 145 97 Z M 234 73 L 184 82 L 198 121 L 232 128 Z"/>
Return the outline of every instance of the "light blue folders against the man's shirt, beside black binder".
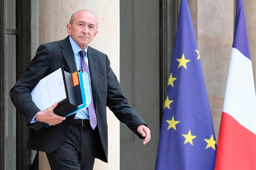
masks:
<path fill-rule="evenodd" d="M 91 104 L 91 92 L 90 92 L 90 85 L 89 85 L 89 76 L 86 72 L 79 71 L 78 72 L 79 77 L 79 84 L 81 88 L 81 95 L 82 95 L 82 101 L 83 104 L 77 107 L 76 110 L 70 112 L 69 114 L 65 115 L 64 117 L 67 117 L 69 115 L 73 115 L 76 112 L 79 112 L 81 110 L 86 109 Z M 51 125 L 46 125 L 45 128 L 49 127 Z"/>

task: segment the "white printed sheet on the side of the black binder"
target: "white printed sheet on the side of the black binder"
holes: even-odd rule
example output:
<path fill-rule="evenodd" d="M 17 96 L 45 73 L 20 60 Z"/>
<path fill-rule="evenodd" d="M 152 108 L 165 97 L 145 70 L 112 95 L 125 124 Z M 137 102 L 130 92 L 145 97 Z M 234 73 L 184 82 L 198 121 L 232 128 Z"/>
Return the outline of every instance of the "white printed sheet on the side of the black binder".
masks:
<path fill-rule="evenodd" d="M 31 92 L 32 100 L 41 110 L 67 98 L 61 68 L 41 79 Z"/>

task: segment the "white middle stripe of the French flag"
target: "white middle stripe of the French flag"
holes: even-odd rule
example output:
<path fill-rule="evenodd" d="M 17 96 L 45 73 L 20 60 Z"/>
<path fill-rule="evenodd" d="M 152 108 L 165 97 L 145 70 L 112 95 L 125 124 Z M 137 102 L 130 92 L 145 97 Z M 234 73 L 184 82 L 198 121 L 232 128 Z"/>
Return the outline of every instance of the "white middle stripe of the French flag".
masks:
<path fill-rule="evenodd" d="M 256 134 L 256 95 L 252 61 L 232 48 L 223 112 Z"/>

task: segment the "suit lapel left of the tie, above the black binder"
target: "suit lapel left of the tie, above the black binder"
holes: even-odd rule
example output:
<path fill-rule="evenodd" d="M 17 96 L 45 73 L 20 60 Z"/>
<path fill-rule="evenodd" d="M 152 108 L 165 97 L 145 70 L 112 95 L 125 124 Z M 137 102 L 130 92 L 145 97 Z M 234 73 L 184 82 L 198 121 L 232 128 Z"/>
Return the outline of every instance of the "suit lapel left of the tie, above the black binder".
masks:
<path fill-rule="evenodd" d="M 68 68 L 71 71 L 71 73 L 77 71 L 76 61 L 74 58 L 74 52 L 73 52 L 72 46 L 70 44 L 69 37 L 65 38 L 62 41 L 60 46 L 63 48 L 60 51 L 61 51 L 64 59 L 66 60 L 66 62 L 68 64 Z"/>

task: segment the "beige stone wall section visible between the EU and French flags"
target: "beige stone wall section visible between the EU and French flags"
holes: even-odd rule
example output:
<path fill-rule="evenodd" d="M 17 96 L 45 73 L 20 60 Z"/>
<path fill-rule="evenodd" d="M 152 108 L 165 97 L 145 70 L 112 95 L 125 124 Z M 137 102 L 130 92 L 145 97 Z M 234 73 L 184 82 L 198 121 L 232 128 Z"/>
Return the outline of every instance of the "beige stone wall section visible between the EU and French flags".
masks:
<path fill-rule="evenodd" d="M 189 0 L 189 3 L 218 140 L 233 44 L 234 0 L 225 3 L 222 0 Z"/>

